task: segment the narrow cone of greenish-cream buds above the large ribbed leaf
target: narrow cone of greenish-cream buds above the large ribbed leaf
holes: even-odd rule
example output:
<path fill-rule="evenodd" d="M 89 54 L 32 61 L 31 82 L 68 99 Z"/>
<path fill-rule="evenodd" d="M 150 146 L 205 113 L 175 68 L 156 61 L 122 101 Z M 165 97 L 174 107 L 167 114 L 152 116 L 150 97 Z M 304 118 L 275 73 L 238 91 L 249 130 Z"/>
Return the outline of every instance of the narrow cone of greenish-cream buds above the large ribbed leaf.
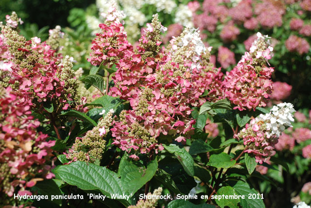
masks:
<path fill-rule="evenodd" d="M 104 115 L 103 110 L 100 115 Z M 100 120 L 92 130 L 86 132 L 83 138 L 77 137 L 69 153 L 64 153 L 66 158 L 72 161 L 87 161 L 97 162 L 101 161 L 102 155 L 106 146 L 104 137 L 109 133 L 109 127 L 112 125 L 114 110 L 110 109 L 102 120 Z M 70 163 L 69 162 L 69 163 Z"/>

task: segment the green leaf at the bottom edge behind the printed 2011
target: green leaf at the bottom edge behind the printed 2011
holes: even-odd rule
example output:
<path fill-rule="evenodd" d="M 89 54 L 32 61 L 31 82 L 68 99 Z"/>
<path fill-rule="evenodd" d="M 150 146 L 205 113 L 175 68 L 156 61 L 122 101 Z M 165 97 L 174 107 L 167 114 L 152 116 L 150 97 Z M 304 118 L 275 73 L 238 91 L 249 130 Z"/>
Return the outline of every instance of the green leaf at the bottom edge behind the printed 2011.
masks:
<path fill-rule="evenodd" d="M 236 185 L 233 186 L 233 189 L 237 194 L 245 196 L 245 199 L 240 199 L 242 208 L 265 208 L 261 196 L 259 195 L 258 197 L 258 192 L 255 189 L 250 189 L 247 183 L 238 181 Z M 249 199 L 249 194 L 254 193 L 256 194 L 256 199 L 253 199 L 252 197 Z"/>

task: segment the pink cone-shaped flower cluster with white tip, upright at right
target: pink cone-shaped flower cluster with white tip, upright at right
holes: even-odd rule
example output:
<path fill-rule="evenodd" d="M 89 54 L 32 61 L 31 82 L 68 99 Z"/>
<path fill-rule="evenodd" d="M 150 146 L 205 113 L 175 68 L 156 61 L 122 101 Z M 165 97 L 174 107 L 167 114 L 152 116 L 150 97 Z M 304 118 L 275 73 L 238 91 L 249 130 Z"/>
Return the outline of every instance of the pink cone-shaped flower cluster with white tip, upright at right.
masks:
<path fill-rule="evenodd" d="M 250 52 L 245 52 L 238 65 L 226 72 L 224 80 L 225 96 L 237 105 L 234 109 L 241 111 L 266 106 L 272 90 L 270 78 L 274 69 L 266 64 L 273 48 L 266 35 L 257 36 Z"/>

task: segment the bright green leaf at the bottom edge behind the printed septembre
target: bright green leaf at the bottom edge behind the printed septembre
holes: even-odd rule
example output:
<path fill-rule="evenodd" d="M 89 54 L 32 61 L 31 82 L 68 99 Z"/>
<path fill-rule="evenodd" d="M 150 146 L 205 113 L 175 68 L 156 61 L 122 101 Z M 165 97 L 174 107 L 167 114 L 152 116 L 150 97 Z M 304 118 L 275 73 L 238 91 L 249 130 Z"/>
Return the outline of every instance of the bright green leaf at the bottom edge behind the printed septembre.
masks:
<path fill-rule="evenodd" d="M 217 196 L 218 197 L 223 197 L 222 195 L 228 196 L 229 195 L 234 195 L 235 191 L 232 187 L 230 186 L 224 186 L 220 188 L 217 191 Z M 216 195 L 215 195 L 216 197 Z M 226 198 L 221 198 L 221 199 L 215 199 L 216 203 L 219 205 L 219 207 L 224 208 L 225 206 L 228 206 L 229 208 L 239 208 L 238 203 L 239 199 L 226 199 Z M 244 208 L 244 207 L 243 207 Z"/>

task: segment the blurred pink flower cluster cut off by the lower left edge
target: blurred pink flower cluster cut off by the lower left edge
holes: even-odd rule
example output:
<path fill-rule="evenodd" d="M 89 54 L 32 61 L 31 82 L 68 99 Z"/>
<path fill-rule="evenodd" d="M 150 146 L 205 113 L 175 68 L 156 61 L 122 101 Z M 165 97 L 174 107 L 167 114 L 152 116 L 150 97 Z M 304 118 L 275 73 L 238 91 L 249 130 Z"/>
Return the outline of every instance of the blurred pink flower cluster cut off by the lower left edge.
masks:
<path fill-rule="evenodd" d="M 36 181 L 52 178 L 52 149 L 55 141 L 37 132 L 40 122 L 31 116 L 23 93 L 0 86 L 0 190 L 11 197 L 15 187 L 28 193 Z M 5 203 L 4 203 L 5 204 Z"/>

